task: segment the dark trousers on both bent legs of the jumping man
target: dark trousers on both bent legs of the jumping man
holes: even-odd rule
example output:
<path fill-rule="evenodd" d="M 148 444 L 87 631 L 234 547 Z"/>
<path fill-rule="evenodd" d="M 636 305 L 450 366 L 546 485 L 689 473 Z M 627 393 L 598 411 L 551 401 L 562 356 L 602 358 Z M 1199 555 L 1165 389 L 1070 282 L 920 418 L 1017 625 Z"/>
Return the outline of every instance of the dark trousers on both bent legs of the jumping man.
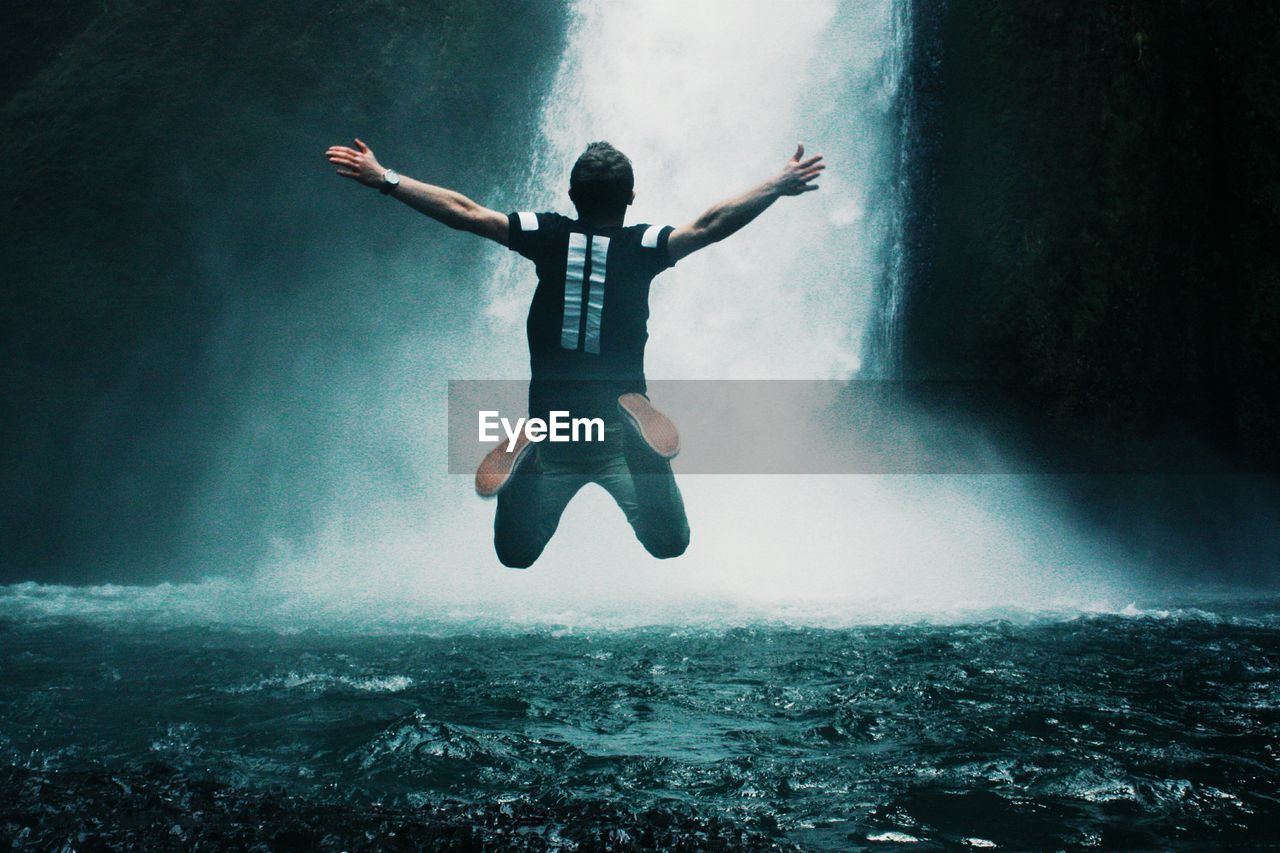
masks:
<path fill-rule="evenodd" d="M 659 560 L 689 547 L 689 520 L 671 462 L 622 421 L 598 443 L 538 444 L 498 493 L 493 544 L 498 560 L 527 569 L 559 526 L 564 507 L 588 483 L 613 496 L 640 544 Z"/>

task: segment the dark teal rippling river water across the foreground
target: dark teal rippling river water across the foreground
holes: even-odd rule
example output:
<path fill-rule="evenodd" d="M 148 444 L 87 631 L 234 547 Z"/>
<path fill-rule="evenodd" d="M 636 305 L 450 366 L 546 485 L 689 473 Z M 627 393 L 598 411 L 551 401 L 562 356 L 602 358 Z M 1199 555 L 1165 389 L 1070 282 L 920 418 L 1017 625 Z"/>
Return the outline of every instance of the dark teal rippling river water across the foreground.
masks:
<path fill-rule="evenodd" d="M 1271 844 L 1280 602 L 818 629 L 0 615 L 0 840 Z M 124 594 L 118 592 L 116 594 Z"/>

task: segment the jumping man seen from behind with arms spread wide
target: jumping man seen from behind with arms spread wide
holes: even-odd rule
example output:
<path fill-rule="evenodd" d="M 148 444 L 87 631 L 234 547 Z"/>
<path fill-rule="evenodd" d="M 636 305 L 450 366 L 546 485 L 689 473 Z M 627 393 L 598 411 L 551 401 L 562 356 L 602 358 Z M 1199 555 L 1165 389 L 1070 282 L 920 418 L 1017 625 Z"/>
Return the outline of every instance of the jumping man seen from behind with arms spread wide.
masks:
<path fill-rule="evenodd" d="M 568 197 L 577 219 L 554 213 L 500 214 L 466 196 L 383 168 L 367 145 L 333 146 L 338 174 L 403 201 L 449 228 L 488 237 L 534 261 L 538 288 L 526 332 L 531 418 L 552 411 L 600 418 L 603 442 L 499 444 L 476 471 L 476 491 L 498 496 L 498 560 L 527 569 L 556 533 L 570 500 L 588 483 L 613 496 L 636 538 L 658 558 L 689 547 L 685 505 L 671 471 L 675 425 L 645 397 L 649 284 L 680 259 L 724 240 L 782 196 L 818 188 L 822 156 L 804 145 L 782 172 L 710 207 L 682 228 L 622 223 L 635 201 L 631 160 L 593 142 L 573 164 Z"/>

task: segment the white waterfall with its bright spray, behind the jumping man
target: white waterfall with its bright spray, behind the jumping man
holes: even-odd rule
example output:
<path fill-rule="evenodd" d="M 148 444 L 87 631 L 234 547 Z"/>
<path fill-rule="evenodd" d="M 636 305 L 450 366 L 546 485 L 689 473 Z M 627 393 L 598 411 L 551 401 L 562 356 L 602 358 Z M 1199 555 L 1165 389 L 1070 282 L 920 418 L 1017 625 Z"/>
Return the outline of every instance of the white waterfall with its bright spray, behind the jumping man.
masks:
<path fill-rule="evenodd" d="M 797 141 L 829 163 L 819 192 L 781 200 L 655 280 L 650 378 L 856 374 L 878 288 L 900 261 L 895 97 L 906 3 L 575 4 L 522 209 L 572 213 L 568 170 L 594 140 L 635 163 L 632 223 L 687 222 L 781 168 Z M 495 273 L 475 327 L 407 346 L 431 353 L 416 362 L 435 365 L 438 380 L 527 377 L 534 270 L 488 251 Z M 444 423 L 440 400 L 401 397 L 390 405 L 406 420 L 428 410 L 424 459 L 443 459 L 430 428 Z M 1083 583 L 1100 578 L 1097 555 L 1011 478 L 685 476 L 692 544 L 663 562 L 589 487 L 520 573 L 493 556 L 493 505 L 442 467 L 424 464 L 420 503 L 348 519 L 315 555 L 282 560 L 262 583 L 288 597 L 314 592 L 291 605 L 305 612 L 538 622 L 840 622 L 1098 603 L 1110 589 Z"/>

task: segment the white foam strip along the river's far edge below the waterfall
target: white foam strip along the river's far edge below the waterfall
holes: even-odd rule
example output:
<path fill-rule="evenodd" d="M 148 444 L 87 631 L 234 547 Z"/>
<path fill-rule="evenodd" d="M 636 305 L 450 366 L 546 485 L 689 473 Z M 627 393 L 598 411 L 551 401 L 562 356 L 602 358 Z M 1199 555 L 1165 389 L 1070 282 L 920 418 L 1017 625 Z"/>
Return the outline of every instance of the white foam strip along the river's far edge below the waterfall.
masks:
<path fill-rule="evenodd" d="M 321 585 L 316 583 L 321 574 L 323 565 L 291 564 L 244 580 L 210 579 L 155 587 L 14 584 L 0 587 L 0 619 L 17 624 L 73 619 L 115 626 L 220 625 L 243 630 L 266 629 L 287 635 L 310 630 L 431 635 L 539 630 L 550 631 L 552 635 L 573 635 L 655 625 L 695 631 L 744 625 L 840 629 L 902 622 L 1041 622 L 1121 613 L 1119 605 L 1110 608 L 1102 603 L 1088 607 L 1070 603 L 993 606 L 979 598 L 929 602 L 927 598 L 867 594 L 851 597 L 847 593 L 826 601 L 788 598 L 776 593 L 751 598 L 723 594 L 714 585 L 709 585 L 701 594 L 692 592 L 691 585 L 685 585 L 675 590 L 650 589 L 646 597 L 634 597 L 627 592 L 607 596 L 599 589 L 584 596 L 566 589 L 563 578 L 552 575 L 545 583 L 532 588 L 557 590 L 559 598 L 572 599 L 570 606 L 564 606 L 563 601 L 557 606 L 550 597 L 541 594 L 527 599 L 525 593 L 529 588 L 521 588 L 520 584 L 515 584 L 515 593 L 498 593 L 498 584 L 493 584 L 486 588 L 485 594 L 480 594 L 475 585 L 433 590 L 431 581 L 416 587 L 370 587 L 367 578 L 371 573 L 361 573 L 358 567 L 335 573 Z M 444 579 L 449 573 L 431 573 L 430 576 Z M 498 573 L 493 576 L 503 578 Z M 535 575 L 513 578 L 524 576 Z M 306 578 L 308 584 L 293 583 L 297 578 Z M 401 583 L 404 583 L 403 578 Z M 605 576 L 600 587 L 609 585 L 616 584 Z M 1239 619 L 1230 621 L 1249 622 Z M 1276 619 L 1263 621 L 1272 624 Z M 355 689 L 394 693 L 412 685 L 410 676 L 398 674 L 355 675 L 291 670 L 265 675 L 234 689 Z"/>

